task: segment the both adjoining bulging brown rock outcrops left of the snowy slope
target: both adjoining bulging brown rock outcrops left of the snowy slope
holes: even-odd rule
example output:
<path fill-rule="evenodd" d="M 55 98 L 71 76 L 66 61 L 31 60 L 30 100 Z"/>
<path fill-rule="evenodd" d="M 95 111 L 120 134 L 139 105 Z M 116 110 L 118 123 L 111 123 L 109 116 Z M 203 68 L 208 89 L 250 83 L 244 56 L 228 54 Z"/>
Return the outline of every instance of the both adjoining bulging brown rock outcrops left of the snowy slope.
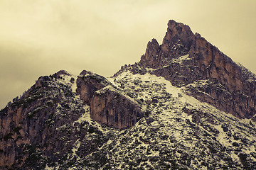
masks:
<path fill-rule="evenodd" d="M 138 103 L 104 77 L 82 71 L 77 86 L 80 98 L 90 105 L 93 120 L 113 128 L 125 129 L 135 125 L 143 117 Z"/>

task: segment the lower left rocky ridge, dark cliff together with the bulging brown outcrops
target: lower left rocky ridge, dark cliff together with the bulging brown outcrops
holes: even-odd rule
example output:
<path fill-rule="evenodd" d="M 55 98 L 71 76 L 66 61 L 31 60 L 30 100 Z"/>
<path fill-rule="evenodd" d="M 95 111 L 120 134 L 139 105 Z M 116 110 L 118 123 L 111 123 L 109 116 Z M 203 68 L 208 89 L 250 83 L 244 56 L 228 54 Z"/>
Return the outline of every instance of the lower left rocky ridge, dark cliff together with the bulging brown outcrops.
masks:
<path fill-rule="evenodd" d="M 67 159 L 65 153 L 84 133 L 97 131 L 88 123 L 78 123 L 86 113 L 87 120 L 91 117 L 117 129 L 129 128 L 143 117 L 137 101 L 98 74 L 84 70 L 74 77 L 61 70 L 40 77 L 21 98 L 1 110 L 0 167 L 42 169 L 46 162 Z M 93 139 L 95 146 L 83 143 L 86 148 L 79 148 L 81 155 L 97 150 L 105 141 L 101 135 Z"/>

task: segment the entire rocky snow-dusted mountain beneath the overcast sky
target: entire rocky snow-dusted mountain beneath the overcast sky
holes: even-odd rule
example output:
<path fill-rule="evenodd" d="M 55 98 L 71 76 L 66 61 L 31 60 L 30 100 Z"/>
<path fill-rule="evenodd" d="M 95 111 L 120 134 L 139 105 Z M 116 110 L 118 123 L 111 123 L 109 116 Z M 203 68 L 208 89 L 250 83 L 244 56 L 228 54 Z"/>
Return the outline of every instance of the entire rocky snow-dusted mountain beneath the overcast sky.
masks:
<path fill-rule="evenodd" d="M 105 78 L 39 77 L 0 111 L 0 169 L 256 169 L 256 77 L 183 23 Z"/>

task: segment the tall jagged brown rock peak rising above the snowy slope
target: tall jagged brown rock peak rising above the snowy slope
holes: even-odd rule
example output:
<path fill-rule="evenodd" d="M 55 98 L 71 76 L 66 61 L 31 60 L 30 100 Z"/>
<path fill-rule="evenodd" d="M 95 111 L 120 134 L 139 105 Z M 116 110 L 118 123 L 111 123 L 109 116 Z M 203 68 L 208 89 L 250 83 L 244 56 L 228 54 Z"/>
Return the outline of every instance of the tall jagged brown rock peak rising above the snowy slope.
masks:
<path fill-rule="evenodd" d="M 255 74 L 235 64 L 183 23 L 169 21 L 162 45 L 151 40 L 139 65 L 238 118 L 252 118 L 256 113 Z M 208 84 L 197 86 L 204 80 Z"/>

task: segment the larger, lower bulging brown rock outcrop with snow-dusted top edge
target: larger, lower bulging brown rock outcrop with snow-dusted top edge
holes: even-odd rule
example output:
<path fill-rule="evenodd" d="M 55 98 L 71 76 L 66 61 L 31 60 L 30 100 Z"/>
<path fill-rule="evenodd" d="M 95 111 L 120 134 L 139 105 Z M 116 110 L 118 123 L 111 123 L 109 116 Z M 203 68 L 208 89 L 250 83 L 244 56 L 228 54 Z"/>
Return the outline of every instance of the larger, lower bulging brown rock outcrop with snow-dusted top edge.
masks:
<path fill-rule="evenodd" d="M 107 86 L 96 91 L 90 102 L 90 115 L 94 120 L 118 129 L 135 125 L 143 114 L 132 98 Z"/>

